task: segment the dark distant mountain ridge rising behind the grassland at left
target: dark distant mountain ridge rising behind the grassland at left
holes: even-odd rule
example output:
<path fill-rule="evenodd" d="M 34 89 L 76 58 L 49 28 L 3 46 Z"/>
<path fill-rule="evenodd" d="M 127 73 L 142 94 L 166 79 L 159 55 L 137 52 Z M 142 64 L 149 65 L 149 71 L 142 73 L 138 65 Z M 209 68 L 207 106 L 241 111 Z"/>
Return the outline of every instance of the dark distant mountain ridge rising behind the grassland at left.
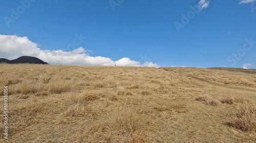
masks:
<path fill-rule="evenodd" d="M 20 56 L 18 59 L 8 60 L 4 58 L 0 58 L 0 63 L 6 64 L 48 64 L 38 58 L 33 56 Z"/>

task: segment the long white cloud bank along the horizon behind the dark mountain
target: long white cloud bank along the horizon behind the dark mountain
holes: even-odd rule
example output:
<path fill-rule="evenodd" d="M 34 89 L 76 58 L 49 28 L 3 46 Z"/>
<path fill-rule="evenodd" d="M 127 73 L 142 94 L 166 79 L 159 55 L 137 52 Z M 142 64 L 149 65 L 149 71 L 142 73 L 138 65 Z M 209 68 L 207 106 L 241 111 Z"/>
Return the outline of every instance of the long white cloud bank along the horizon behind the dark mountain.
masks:
<path fill-rule="evenodd" d="M 0 35 L 0 51 L 0 58 L 9 60 L 27 55 L 35 56 L 49 64 L 159 67 L 152 62 L 140 63 L 129 58 L 113 61 L 103 56 L 91 56 L 83 47 L 73 51 L 41 50 L 38 44 L 30 41 L 28 37 L 16 35 Z"/>

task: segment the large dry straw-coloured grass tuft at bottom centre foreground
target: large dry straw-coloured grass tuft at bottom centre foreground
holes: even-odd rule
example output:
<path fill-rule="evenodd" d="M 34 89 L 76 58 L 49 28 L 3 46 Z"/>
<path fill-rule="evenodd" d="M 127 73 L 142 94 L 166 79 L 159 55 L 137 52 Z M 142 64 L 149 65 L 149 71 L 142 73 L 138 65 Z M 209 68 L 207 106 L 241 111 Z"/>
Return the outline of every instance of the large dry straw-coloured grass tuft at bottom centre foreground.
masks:
<path fill-rule="evenodd" d="M 148 139 L 142 135 L 146 127 L 146 120 L 132 110 L 129 106 L 120 106 L 108 114 L 103 123 L 93 125 L 86 132 L 90 141 L 104 140 L 109 142 L 147 142 Z"/>

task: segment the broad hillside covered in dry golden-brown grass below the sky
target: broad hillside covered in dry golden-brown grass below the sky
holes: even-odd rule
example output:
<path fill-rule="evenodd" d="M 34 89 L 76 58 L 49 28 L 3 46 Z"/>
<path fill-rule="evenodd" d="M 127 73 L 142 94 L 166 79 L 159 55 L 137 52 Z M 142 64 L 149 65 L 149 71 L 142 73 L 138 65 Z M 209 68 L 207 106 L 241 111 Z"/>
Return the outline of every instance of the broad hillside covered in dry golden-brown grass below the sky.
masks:
<path fill-rule="evenodd" d="M 256 141 L 256 74 L 0 64 L 0 77 L 9 142 Z"/>

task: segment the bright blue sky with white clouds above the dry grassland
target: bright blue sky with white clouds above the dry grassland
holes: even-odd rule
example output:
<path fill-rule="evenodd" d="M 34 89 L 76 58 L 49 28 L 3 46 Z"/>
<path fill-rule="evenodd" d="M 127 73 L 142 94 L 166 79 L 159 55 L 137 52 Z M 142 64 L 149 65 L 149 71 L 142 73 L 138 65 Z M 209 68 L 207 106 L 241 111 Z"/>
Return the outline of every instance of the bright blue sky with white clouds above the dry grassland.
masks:
<path fill-rule="evenodd" d="M 22 1 L 28 1 L 30 5 L 17 19 L 12 18 L 12 9 L 17 12 L 18 8 L 23 6 L 22 3 L 0 2 L 0 35 L 2 35 L 0 56 L 4 56 L 3 58 L 15 58 L 24 54 L 24 51 L 18 51 L 19 54 L 13 56 L 9 53 L 23 48 L 26 50 L 26 47 L 23 47 L 26 46 L 24 42 L 17 45 L 18 42 L 15 40 L 19 38 L 27 37 L 25 40 L 30 45 L 37 43 L 31 48 L 40 48 L 44 53 L 47 50 L 59 49 L 69 52 L 74 50 L 67 47 L 73 43 L 75 34 L 81 34 L 87 38 L 82 42 L 78 41 L 79 44 L 76 44 L 75 48 L 86 49 L 87 51 L 80 49 L 83 56 L 89 57 L 89 60 L 100 56 L 102 60 L 107 58 L 106 60 L 110 61 L 107 64 L 89 61 L 90 64 L 84 65 L 94 65 L 93 63 L 111 65 L 118 63 L 120 59 L 129 58 L 134 63 L 137 62 L 135 63 L 137 65 L 151 62 L 160 67 L 243 68 L 244 64 L 247 64 L 248 68 L 256 68 L 256 9 L 254 9 L 256 5 L 253 6 L 256 1 L 254 0 Z M 122 3 L 118 4 L 118 2 Z M 115 4 L 118 5 L 113 9 Z M 196 13 L 190 6 L 198 5 Z M 189 12 L 194 13 L 194 16 L 188 18 L 189 22 L 182 23 L 182 14 L 187 17 Z M 5 17 L 13 21 L 10 22 Z M 177 30 L 175 22 L 183 26 Z M 8 36 L 15 37 L 8 38 Z M 16 49 L 8 50 L 7 45 L 10 44 L 7 42 L 3 44 L 6 39 L 12 39 L 10 43 L 16 43 L 12 46 Z M 247 50 L 244 49 L 245 43 L 248 43 L 245 39 L 255 41 L 252 46 L 247 44 Z M 76 53 L 82 54 L 82 52 Z M 237 58 L 233 53 L 238 54 Z M 73 55 L 74 58 L 76 56 L 74 53 L 65 55 Z M 55 56 L 57 57 L 59 56 Z M 39 56 L 39 58 L 46 61 L 54 60 L 54 56 L 51 58 Z M 86 61 L 88 62 L 88 59 Z M 83 61 L 74 64 L 83 65 Z"/>

